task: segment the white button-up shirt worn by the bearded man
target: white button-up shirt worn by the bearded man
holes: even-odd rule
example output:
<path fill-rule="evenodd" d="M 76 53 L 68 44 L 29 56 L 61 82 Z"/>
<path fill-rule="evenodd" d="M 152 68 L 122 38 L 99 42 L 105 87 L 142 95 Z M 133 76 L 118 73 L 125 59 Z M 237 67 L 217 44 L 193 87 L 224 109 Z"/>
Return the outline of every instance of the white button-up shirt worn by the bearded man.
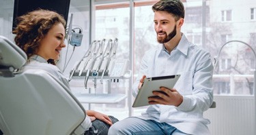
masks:
<path fill-rule="evenodd" d="M 203 118 L 203 111 L 209 109 L 213 101 L 212 61 L 208 52 L 188 42 L 184 34 L 171 54 L 164 45 L 145 52 L 133 86 L 133 96 L 138 94 L 139 79 L 143 75 L 156 77 L 177 74 L 181 76 L 174 88 L 183 95 L 182 104 L 179 107 L 150 105 L 139 117 L 166 122 L 187 134 L 210 134 L 207 127 L 210 121 Z"/>

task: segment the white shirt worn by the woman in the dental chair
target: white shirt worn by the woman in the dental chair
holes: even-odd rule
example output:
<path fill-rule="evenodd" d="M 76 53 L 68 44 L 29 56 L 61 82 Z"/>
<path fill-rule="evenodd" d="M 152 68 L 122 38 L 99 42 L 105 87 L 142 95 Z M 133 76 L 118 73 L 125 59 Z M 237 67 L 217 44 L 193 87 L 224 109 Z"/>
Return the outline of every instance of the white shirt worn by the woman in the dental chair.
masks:
<path fill-rule="evenodd" d="M 29 69 L 41 69 L 44 70 L 51 75 L 55 76 L 59 81 L 61 81 L 67 88 L 70 90 L 70 85 L 68 83 L 68 79 L 63 75 L 63 73 L 59 70 L 59 68 L 53 64 L 48 64 L 48 62 L 38 55 L 33 55 L 29 58 L 28 62 L 23 66 L 22 71 L 26 71 Z M 83 134 L 85 131 L 89 130 L 91 127 L 91 119 L 86 115 L 85 120 L 81 123 L 81 126 L 74 131 L 74 134 Z"/>

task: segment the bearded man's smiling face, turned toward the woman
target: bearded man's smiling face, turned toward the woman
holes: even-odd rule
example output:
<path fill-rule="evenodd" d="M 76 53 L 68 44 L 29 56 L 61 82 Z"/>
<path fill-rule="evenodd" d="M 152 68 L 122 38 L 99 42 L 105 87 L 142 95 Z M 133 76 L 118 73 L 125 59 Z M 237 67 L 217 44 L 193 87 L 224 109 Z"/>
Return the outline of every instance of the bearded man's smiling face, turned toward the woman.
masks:
<path fill-rule="evenodd" d="M 159 43 L 167 43 L 173 39 L 177 33 L 175 18 L 168 12 L 155 12 L 154 28 Z"/>

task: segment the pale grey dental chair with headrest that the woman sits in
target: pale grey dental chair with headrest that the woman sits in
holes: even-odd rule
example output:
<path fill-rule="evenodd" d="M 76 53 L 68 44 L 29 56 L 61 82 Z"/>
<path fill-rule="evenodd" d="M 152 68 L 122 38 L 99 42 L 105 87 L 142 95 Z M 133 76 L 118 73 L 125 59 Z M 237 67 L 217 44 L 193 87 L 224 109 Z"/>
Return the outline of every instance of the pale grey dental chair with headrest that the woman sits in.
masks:
<path fill-rule="evenodd" d="M 85 119 L 83 106 L 69 88 L 46 71 L 15 73 L 26 61 L 23 50 L 0 36 L 0 129 L 3 134 L 75 134 Z"/>

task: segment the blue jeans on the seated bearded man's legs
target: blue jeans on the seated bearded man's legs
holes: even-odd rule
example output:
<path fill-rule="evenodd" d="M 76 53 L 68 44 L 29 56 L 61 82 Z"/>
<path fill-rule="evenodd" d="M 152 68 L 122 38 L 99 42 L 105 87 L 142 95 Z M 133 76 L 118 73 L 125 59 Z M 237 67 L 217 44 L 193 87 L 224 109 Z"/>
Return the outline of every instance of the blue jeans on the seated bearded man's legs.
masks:
<path fill-rule="evenodd" d="M 118 121 L 109 128 L 109 135 L 184 135 L 184 132 L 167 123 L 158 123 L 153 120 L 144 120 L 137 117 L 128 117 Z"/>

